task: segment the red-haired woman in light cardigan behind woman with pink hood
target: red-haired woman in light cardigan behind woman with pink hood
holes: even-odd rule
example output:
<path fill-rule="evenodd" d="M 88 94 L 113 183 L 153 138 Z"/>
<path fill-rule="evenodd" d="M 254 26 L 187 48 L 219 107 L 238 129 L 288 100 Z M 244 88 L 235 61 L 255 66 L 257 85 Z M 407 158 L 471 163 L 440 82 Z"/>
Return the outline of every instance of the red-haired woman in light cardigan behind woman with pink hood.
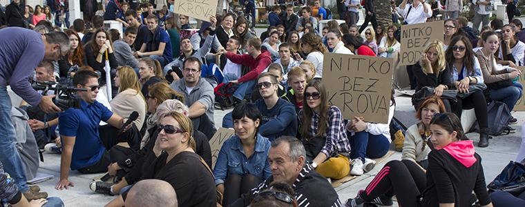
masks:
<path fill-rule="evenodd" d="M 416 118 L 420 121 L 406 130 L 401 159 L 413 161 L 423 169 L 428 168 L 430 148 L 426 142 L 430 136 L 430 120 L 435 113 L 443 112 L 446 112 L 445 105 L 439 97 L 430 96 L 421 101 L 416 112 Z"/>

